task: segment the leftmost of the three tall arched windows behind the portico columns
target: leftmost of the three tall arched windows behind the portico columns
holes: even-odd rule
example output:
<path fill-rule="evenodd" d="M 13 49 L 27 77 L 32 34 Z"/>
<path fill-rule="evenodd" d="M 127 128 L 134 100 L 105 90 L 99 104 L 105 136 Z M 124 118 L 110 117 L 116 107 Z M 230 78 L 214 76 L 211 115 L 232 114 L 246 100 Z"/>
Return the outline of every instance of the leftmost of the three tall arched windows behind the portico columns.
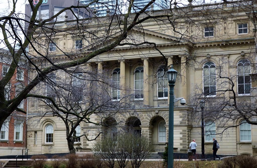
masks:
<path fill-rule="evenodd" d="M 120 100 L 120 76 L 121 69 L 116 68 L 112 73 L 112 99 Z"/>

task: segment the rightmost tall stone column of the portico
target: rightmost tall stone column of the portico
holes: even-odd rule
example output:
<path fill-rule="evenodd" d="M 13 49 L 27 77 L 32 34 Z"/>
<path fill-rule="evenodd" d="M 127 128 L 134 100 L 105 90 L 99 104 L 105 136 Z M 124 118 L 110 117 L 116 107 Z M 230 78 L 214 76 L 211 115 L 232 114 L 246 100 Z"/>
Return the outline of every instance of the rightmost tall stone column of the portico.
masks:
<path fill-rule="evenodd" d="M 186 99 L 186 102 L 188 103 L 187 98 L 187 67 L 186 67 L 186 60 L 188 55 L 179 55 L 181 57 L 181 88 L 182 88 L 182 97 Z"/>

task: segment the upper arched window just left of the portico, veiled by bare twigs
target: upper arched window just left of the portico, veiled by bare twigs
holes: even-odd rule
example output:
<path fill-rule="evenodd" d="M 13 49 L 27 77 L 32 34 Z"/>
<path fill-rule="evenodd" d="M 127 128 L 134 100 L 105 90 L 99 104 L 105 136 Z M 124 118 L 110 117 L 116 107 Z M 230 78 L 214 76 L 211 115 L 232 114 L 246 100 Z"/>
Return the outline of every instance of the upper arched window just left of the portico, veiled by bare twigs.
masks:
<path fill-rule="evenodd" d="M 72 99 L 81 102 L 83 99 L 83 73 L 75 73 L 72 76 Z"/>

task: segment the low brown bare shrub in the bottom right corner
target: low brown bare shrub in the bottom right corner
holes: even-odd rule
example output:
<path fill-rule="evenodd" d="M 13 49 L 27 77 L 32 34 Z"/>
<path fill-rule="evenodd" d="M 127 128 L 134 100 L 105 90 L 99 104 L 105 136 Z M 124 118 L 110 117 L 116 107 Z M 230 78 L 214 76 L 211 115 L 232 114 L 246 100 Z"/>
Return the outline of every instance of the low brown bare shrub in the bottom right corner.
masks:
<path fill-rule="evenodd" d="M 257 158 L 250 155 L 241 155 L 236 157 L 237 165 L 240 168 L 257 168 Z"/>

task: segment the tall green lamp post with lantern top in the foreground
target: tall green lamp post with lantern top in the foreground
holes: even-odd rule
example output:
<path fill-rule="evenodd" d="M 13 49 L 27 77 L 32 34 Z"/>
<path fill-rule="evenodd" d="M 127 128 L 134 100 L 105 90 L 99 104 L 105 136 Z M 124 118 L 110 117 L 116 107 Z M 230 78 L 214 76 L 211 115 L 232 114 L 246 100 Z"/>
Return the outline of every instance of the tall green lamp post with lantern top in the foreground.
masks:
<path fill-rule="evenodd" d="M 177 77 L 177 71 L 171 69 L 167 71 L 168 82 L 170 87 L 170 102 L 169 102 L 169 139 L 168 139 L 168 168 L 173 168 L 173 133 L 174 133 L 174 86 Z"/>

